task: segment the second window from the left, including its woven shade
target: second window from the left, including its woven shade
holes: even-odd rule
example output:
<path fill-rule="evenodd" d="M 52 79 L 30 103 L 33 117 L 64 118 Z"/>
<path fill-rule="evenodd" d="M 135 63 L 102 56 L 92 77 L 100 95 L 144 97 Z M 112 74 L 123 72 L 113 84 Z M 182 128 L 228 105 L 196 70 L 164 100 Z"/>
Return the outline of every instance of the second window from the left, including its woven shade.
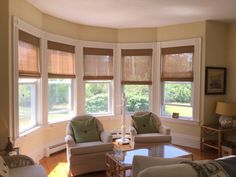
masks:
<path fill-rule="evenodd" d="M 75 47 L 48 41 L 48 122 L 74 115 Z"/>

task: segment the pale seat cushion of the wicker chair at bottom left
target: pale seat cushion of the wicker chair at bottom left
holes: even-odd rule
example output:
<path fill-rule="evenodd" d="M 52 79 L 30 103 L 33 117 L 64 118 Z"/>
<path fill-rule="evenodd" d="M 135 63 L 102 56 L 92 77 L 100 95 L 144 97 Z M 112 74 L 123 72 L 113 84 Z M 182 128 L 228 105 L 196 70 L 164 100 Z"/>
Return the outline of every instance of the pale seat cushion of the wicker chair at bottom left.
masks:
<path fill-rule="evenodd" d="M 41 165 L 30 165 L 11 168 L 10 177 L 46 177 L 46 174 Z"/>

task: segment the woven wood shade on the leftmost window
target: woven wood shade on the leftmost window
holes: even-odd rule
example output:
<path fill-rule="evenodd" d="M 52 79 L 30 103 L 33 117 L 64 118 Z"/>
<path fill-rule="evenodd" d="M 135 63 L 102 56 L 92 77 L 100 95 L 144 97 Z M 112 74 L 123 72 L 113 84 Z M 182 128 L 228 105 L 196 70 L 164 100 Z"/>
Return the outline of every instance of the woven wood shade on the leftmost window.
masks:
<path fill-rule="evenodd" d="M 39 46 L 39 38 L 19 30 L 19 77 L 40 77 Z"/>

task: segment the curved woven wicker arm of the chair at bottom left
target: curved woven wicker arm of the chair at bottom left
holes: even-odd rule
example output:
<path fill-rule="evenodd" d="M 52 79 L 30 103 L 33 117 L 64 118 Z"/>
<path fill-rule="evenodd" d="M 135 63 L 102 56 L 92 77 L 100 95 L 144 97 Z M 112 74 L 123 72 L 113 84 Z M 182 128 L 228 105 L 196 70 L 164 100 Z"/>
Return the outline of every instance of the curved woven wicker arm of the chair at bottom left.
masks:
<path fill-rule="evenodd" d="M 4 161 L 6 162 L 9 168 L 18 168 L 18 167 L 34 165 L 33 159 L 31 159 L 26 155 L 6 156 L 4 157 Z"/>

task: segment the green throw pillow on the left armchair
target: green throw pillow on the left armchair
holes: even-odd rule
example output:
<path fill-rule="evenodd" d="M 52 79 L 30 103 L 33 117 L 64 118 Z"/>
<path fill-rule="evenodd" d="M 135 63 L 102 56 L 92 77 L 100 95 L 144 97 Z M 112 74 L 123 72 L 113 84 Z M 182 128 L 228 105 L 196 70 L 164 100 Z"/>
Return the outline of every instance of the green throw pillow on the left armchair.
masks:
<path fill-rule="evenodd" d="M 71 121 L 71 126 L 77 143 L 100 141 L 95 118 Z"/>

